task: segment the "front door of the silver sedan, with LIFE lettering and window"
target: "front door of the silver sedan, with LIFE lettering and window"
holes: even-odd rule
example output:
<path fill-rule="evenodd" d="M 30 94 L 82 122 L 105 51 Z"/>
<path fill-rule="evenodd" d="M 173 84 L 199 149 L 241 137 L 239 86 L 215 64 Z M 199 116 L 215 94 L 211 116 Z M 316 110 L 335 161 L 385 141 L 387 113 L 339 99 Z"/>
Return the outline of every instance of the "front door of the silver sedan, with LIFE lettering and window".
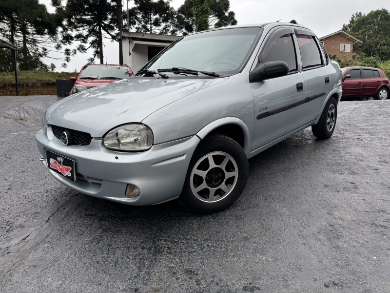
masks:
<path fill-rule="evenodd" d="M 299 128 L 303 111 L 305 81 L 297 70 L 293 31 L 279 28 L 269 34 L 268 43 L 260 51 L 259 63 L 284 61 L 290 72 L 251 84 L 255 109 L 252 151 Z"/>

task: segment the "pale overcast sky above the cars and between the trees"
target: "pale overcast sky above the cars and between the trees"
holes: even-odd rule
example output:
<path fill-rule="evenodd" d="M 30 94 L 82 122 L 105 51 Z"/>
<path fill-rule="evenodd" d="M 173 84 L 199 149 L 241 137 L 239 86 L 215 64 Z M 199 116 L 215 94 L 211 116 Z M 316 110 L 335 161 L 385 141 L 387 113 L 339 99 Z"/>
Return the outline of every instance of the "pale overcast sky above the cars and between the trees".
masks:
<path fill-rule="evenodd" d="M 45 4 L 49 12 L 54 12 L 50 0 L 39 2 Z M 133 0 L 129 0 L 129 7 L 133 3 Z M 184 0 L 172 0 L 171 5 L 177 9 L 183 3 Z M 123 0 L 123 7 L 126 8 L 126 0 Z M 230 10 L 234 11 L 238 24 L 295 20 L 311 29 L 319 38 L 341 30 L 343 24 L 348 23 L 355 12 L 367 14 L 371 10 L 381 8 L 390 10 L 390 0 L 230 0 Z M 103 43 L 104 62 L 117 64 L 118 43 L 110 40 L 103 40 Z M 77 53 L 71 58 L 66 69 L 59 68 L 56 71 L 79 71 L 92 55 L 92 50 L 85 54 Z M 50 56 L 61 57 L 56 53 Z M 58 67 L 63 63 L 49 58 L 43 59 L 43 62 L 55 63 Z"/>

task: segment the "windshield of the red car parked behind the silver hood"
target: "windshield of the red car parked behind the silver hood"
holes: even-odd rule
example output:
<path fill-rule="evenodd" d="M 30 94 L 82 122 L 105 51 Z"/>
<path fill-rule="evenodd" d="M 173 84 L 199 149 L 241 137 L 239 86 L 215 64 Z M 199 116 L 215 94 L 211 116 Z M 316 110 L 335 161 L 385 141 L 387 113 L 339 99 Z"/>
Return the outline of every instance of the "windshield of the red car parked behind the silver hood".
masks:
<path fill-rule="evenodd" d="M 131 76 L 126 66 L 85 65 L 79 79 L 124 79 Z"/>

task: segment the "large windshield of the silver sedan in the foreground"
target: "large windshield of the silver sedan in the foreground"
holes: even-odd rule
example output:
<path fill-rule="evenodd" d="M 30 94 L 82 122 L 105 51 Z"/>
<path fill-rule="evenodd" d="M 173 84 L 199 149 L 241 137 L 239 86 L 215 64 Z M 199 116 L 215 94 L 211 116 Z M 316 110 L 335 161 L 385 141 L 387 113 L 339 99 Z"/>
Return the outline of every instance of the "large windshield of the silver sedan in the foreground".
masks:
<path fill-rule="evenodd" d="M 156 71 L 182 67 L 221 75 L 237 73 L 259 33 L 259 27 L 245 27 L 187 36 L 171 45 L 143 69 Z"/>

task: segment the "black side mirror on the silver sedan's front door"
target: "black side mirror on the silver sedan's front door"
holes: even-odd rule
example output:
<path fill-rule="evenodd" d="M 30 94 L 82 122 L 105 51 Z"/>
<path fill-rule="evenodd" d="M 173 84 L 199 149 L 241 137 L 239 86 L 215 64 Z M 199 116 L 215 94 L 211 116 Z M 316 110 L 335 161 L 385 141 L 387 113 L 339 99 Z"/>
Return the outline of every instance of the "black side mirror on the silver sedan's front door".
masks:
<path fill-rule="evenodd" d="M 266 79 L 285 76 L 287 73 L 289 73 L 289 66 L 283 61 L 260 63 L 249 74 L 249 83 L 257 83 Z"/>

